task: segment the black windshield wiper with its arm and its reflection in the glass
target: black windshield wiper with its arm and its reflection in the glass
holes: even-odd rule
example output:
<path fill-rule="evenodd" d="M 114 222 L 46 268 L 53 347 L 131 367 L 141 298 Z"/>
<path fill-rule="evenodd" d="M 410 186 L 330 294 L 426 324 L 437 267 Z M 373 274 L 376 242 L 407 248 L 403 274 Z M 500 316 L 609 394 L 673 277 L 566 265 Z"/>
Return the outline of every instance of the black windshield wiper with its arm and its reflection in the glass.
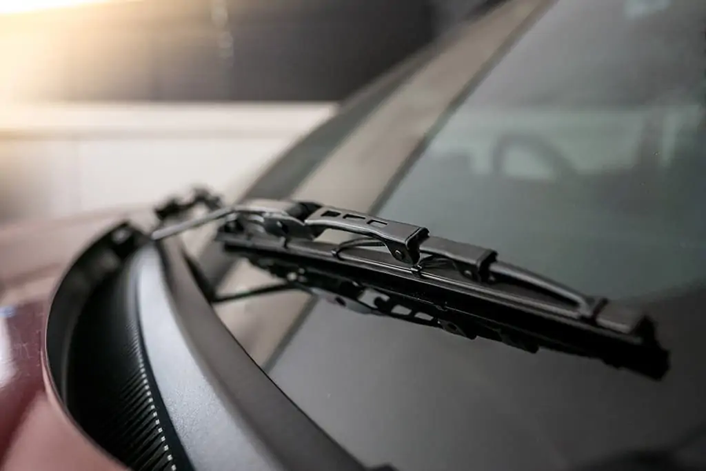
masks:
<path fill-rule="evenodd" d="M 223 220 L 216 239 L 226 251 L 284 280 L 256 292 L 305 290 L 354 311 L 529 352 L 546 347 L 596 357 L 652 378 L 668 369 L 654 323 L 638 309 L 498 261 L 491 249 L 433 237 L 424 227 L 316 203 L 258 200 L 152 237 L 215 219 Z M 342 244 L 316 240 L 327 229 L 363 237 Z"/>

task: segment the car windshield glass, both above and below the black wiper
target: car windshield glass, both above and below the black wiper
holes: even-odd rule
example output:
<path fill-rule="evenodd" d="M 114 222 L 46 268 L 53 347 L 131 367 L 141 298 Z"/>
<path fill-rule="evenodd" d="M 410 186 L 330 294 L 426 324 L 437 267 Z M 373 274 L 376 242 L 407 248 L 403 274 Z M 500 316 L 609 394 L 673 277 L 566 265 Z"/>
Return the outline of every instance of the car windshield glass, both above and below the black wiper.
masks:
<path fill-rule="evenodd" d="M 316 302 L 265 365 L 277 386 L 367 465 L 644 469 L 619 460 L 665 451 L 666 469 L 701 469 L 706 292 L 686 288 L 706 275 L 705 20 L 697 0 L 556 1 L 467 77 L 378 204 L 584 292 L 638 297 L 672 352 L 664 381 Z"/>

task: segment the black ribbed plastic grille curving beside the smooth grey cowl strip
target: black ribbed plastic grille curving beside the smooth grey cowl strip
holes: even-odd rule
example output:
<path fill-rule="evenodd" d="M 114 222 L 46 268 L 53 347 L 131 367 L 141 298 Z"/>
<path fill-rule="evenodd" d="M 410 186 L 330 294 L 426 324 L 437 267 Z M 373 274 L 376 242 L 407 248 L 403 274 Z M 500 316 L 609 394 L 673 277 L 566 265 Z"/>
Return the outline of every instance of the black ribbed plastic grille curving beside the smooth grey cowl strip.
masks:
<path fill-rule="evenodd" d="M 155 386 L 124 275 L 96 290 L 70 348 L 68 408 L 96 443 L 135 471 L 190 470 Z"/>

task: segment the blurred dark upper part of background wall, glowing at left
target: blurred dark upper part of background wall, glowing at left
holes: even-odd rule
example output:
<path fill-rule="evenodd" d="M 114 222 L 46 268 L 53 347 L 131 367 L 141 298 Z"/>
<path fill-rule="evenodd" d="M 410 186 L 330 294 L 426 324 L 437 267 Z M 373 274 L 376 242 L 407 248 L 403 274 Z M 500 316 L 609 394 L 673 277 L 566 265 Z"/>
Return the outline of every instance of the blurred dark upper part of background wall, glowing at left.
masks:
<path fill-rule="evenodd" d="M 429 42 L 435 21 L 428 0 L 114 0 L 6 14 L 0 97 L 339 101 Z"/>

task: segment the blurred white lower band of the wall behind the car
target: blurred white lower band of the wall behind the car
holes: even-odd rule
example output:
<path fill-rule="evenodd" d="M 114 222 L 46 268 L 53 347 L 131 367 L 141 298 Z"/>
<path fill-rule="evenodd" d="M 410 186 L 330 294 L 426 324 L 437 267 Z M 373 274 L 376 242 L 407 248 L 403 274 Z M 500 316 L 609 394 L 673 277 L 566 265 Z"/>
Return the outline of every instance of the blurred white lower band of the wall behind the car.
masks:
<path fill-rule="evenodd" d="M 0 224 L 237 191 L 335 110 L 320 105 L 0 108 Z"/>

